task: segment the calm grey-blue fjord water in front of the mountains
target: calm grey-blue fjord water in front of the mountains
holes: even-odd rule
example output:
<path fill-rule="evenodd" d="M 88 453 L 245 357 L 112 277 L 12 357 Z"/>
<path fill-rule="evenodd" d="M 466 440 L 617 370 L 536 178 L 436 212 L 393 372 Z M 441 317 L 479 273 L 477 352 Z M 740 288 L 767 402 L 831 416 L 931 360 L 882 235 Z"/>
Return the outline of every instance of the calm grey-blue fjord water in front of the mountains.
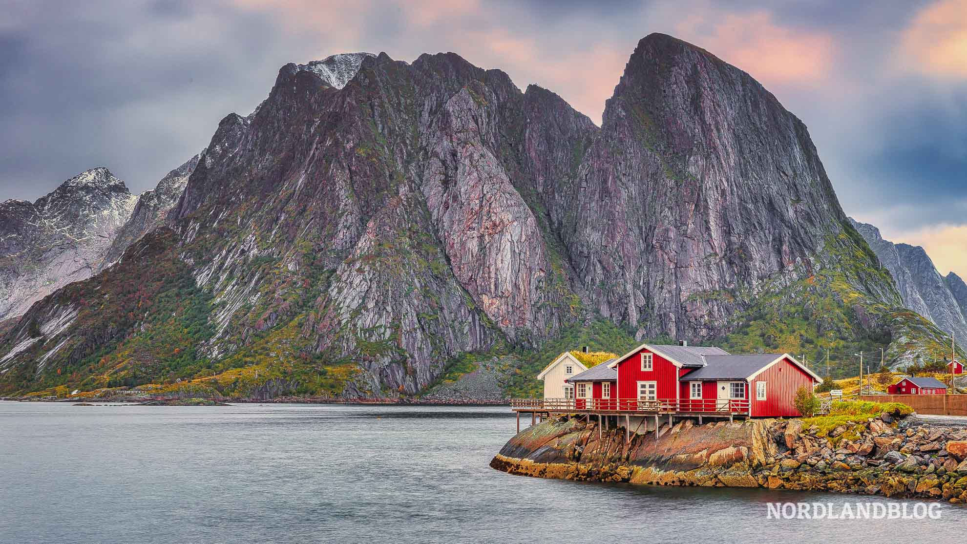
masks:
<path fill-rule="evenodd" d="M 487 467 L 506 408 L 0 402 L 0 542 L 963 542 L 940 520 L 767 520 L 831 494 L 604 485 Z"/>

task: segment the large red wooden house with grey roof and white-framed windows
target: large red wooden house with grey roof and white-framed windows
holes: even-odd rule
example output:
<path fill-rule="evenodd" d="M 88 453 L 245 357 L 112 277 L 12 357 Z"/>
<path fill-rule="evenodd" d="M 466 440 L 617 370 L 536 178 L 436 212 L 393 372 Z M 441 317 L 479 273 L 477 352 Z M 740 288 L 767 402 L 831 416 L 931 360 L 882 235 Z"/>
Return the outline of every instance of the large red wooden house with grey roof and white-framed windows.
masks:
<path fill-rule="evenodd" d="M 619 410 L 794 416 L 796 390 L 822 383 L 789 354 L 734 356 L 684 344 L 642 344 L 609 366 L 618 374 Z"/>

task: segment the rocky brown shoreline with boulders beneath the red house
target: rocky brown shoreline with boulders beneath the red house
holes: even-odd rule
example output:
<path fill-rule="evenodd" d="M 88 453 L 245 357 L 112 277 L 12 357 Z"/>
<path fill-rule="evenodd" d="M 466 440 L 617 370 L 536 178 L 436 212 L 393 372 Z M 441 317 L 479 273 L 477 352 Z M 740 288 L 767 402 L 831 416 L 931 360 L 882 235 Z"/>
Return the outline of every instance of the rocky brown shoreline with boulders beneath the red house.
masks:
<path fill-rule="evenodd" d="M 521 431 L 490 462 L 513 474 L 650 485 L 763 487 L 967 502 L 967 428 L 882 414 L 826 436 L 801 419 L 601 432 L 563 416 Z"/>

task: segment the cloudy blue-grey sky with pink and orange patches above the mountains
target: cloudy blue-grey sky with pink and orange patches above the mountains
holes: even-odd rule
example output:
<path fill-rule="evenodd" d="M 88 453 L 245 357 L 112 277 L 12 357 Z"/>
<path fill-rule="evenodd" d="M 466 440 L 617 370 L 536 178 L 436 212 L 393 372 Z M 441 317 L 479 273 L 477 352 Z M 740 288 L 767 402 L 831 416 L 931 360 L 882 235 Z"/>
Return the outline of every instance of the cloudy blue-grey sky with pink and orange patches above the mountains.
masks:
<path fill-rule="evenodd" d="M 596 123 L 652 32 L 749 72 L 802 119 L 848 215 L 967 277 L 967 0 L 0 0 L 0 199 L 94 166 L 133 192 L 247 115 L 278 69 L 454 51 Z"/>

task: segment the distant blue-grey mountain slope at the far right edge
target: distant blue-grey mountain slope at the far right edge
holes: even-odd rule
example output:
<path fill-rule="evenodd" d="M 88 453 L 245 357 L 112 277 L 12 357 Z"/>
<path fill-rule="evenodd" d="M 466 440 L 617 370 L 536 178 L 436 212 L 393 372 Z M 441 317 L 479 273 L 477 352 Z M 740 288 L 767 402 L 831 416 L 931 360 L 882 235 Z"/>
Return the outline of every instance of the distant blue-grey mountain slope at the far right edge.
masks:
<path fill-rule="evenodd" d="M 903 304 L 932 321 L 947 333 L 967 338 L 967 317 L 960 301 L 967 301 L 963 281 L 951 272 L 940 275 L 923 247 L 883 240 L 873 225 L 850 219 L 890 271 L 903 298 Z M 954 295 L 954 290 L 960 299 Z"/>

